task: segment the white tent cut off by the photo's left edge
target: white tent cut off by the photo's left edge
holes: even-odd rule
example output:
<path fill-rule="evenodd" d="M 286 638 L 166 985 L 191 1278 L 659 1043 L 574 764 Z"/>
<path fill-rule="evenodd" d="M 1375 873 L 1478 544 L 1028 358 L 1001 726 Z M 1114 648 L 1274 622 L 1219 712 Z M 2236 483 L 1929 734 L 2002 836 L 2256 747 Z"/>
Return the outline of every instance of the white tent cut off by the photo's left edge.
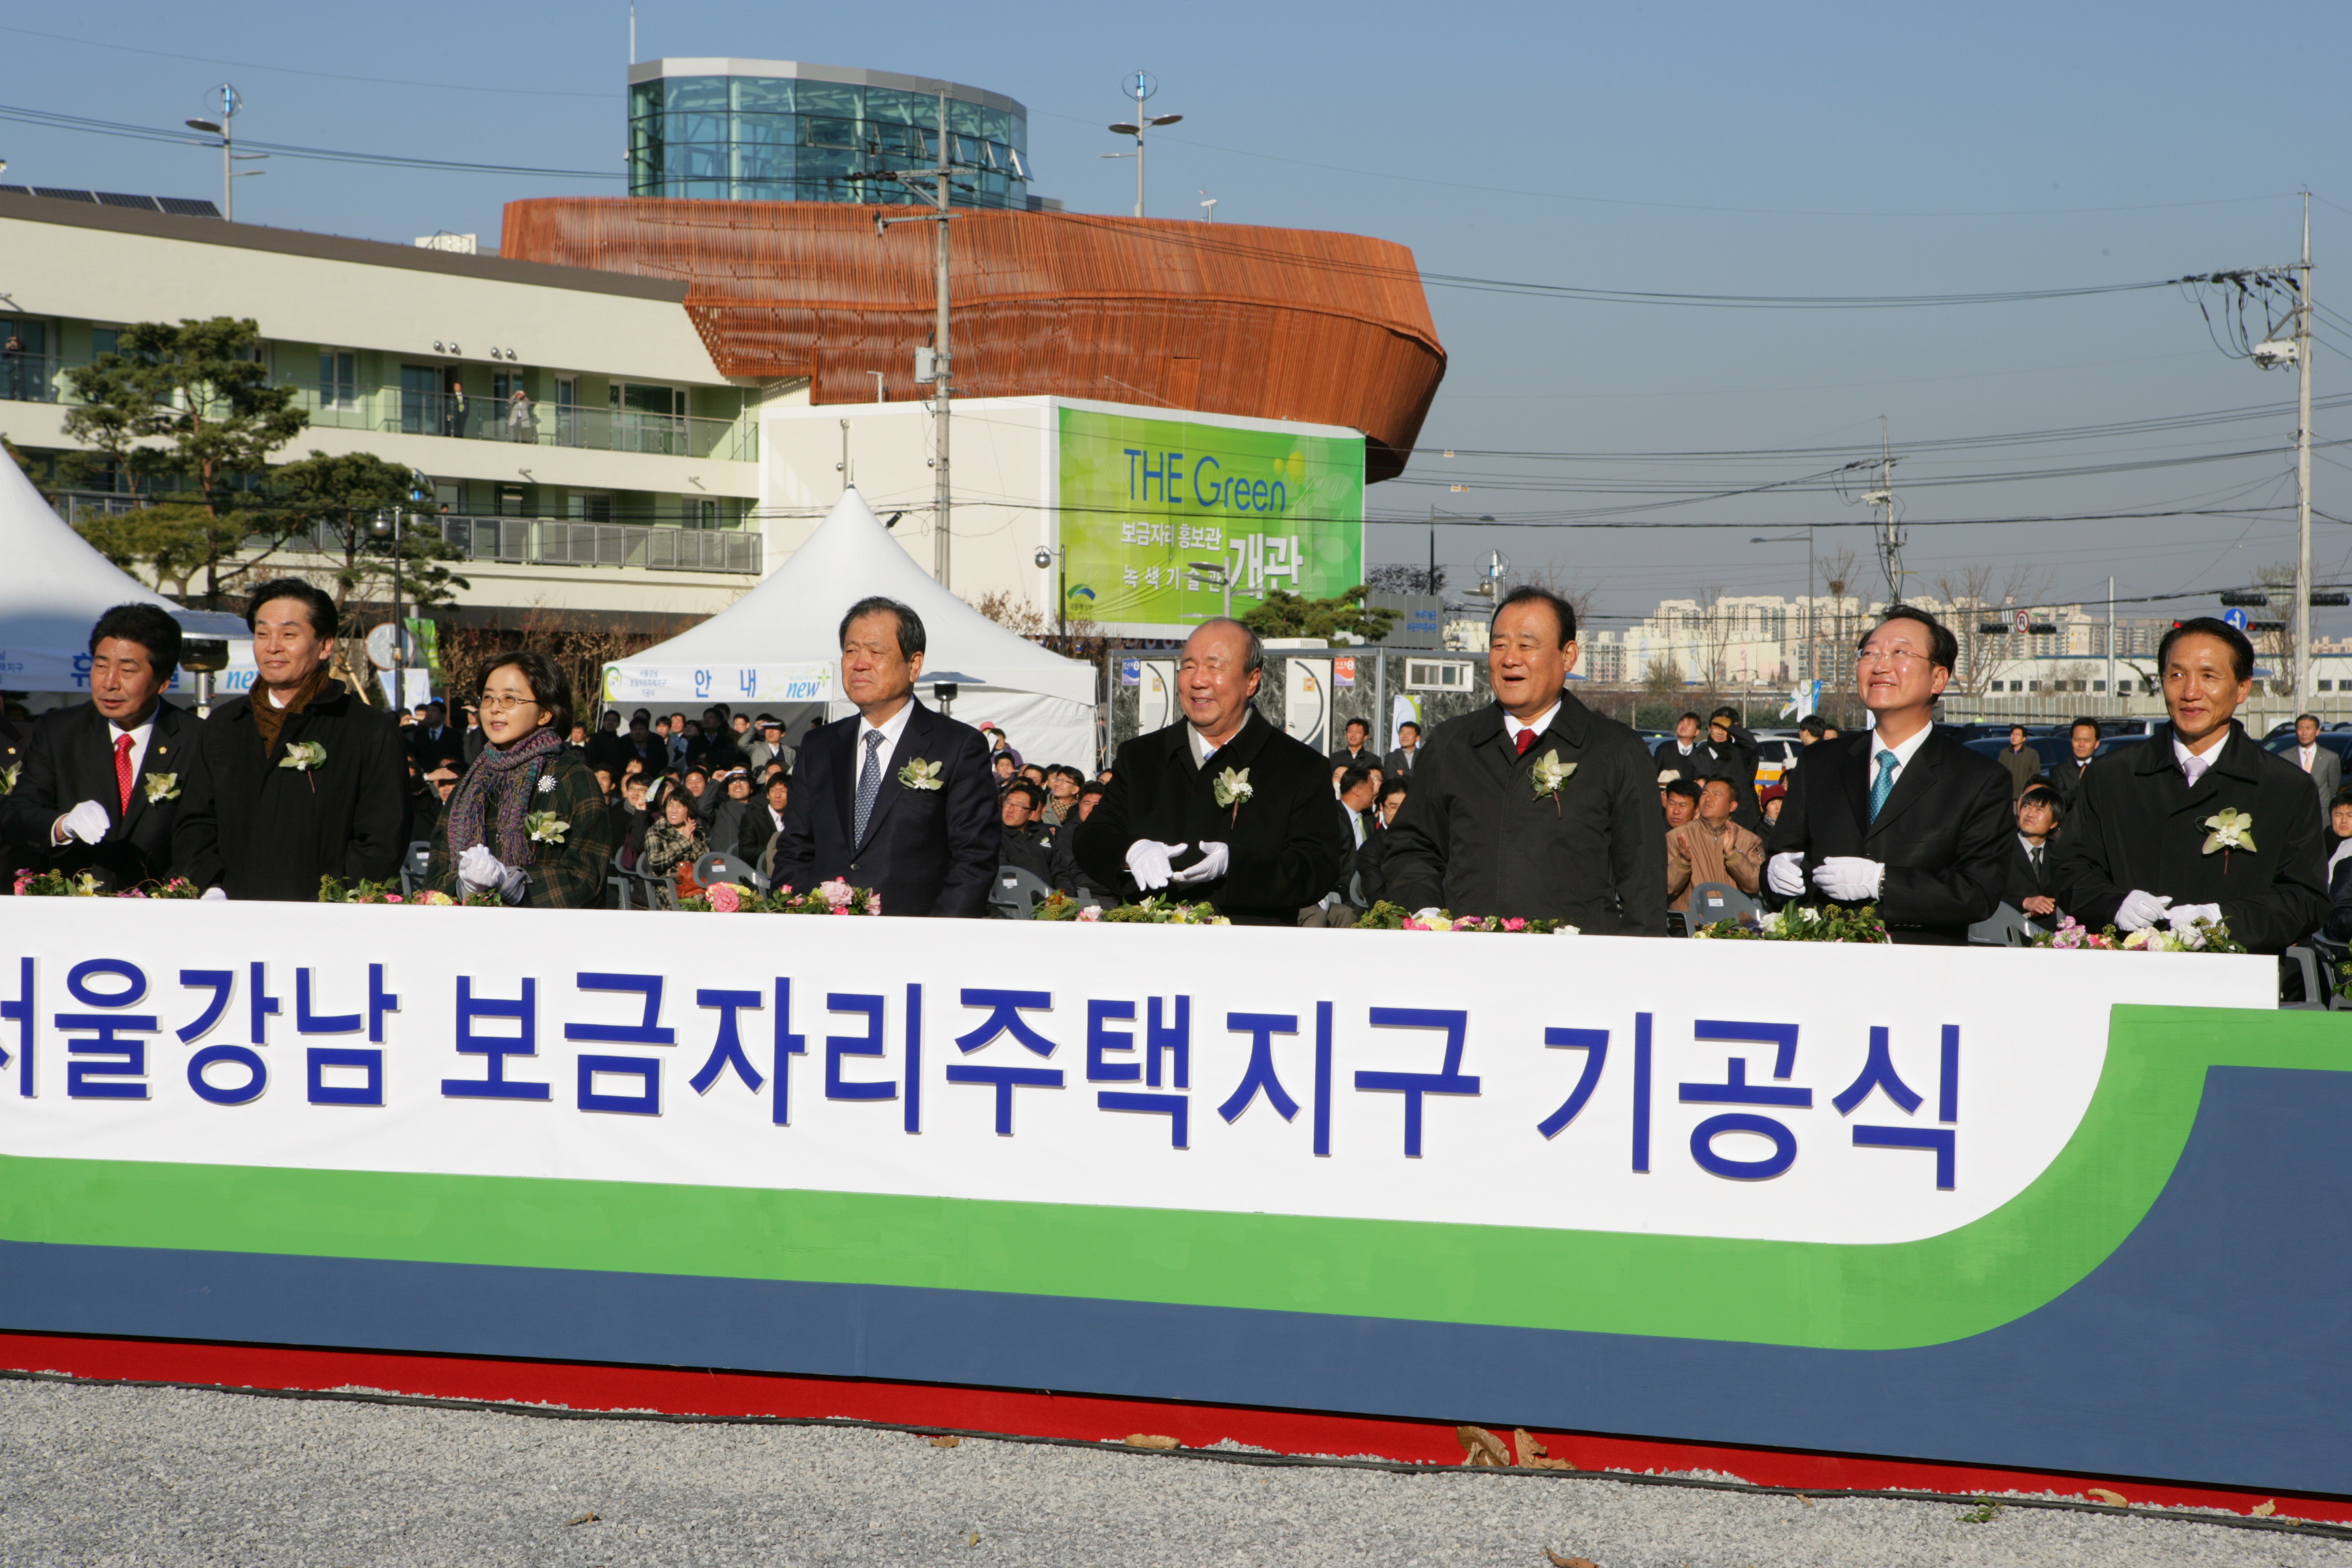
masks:
<path fill-rule="evenodd" d="M 89 691 L 89 628 L 115 604 L 160 604 L 191 637 L 245 644 L 233 663 L 252 665 L 242 616 L 181 609 L 129 576 L 75 534 L 40 498 L 16 463 L 0 458 L 0 689 L 26 693 Z M 169 686 L 191 693 L 181 670 Z"/>

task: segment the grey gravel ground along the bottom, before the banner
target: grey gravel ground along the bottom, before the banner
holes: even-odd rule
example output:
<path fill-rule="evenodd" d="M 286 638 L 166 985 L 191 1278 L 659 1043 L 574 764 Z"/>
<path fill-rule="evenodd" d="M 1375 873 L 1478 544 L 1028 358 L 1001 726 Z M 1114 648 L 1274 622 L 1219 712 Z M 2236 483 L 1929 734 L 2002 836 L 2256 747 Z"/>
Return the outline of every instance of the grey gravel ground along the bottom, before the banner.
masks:
<path fill-rule="evenodd" d="M 593 1523 L 567 1523 L 595 1514 Z M 2352 1563 L 2352 1540 L 1931 1502 L 1296 1469 L 896 1432 L 0 1382 L 0 1563 Z"/>

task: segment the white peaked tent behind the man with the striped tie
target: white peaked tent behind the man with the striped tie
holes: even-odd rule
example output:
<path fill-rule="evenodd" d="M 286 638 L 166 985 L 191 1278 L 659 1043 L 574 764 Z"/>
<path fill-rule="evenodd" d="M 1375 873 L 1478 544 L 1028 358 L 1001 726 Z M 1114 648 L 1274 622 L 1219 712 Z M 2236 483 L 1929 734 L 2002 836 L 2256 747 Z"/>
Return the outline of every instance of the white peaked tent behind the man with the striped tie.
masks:
<path fill-rule="evenodd" d="M 1028 762 L 1094 771 L 1094 665 L 1004 630 L 941 588 L 854 487 L 748 595 L 689 632 L 604 665 L 604 703 L 675 703 L 684 712 L 727 703 L 786 722 L 795 717 L 786 708 L 814 712 L 826 703 L 828 717 L 847 717 L 854 710 L 837 689 L 840 621 L 868 595 L 922 616 L 929 649 L 917 696 L 934 701 L 931 684 L 953 677 L 957 719 L 997 724 Z"/>

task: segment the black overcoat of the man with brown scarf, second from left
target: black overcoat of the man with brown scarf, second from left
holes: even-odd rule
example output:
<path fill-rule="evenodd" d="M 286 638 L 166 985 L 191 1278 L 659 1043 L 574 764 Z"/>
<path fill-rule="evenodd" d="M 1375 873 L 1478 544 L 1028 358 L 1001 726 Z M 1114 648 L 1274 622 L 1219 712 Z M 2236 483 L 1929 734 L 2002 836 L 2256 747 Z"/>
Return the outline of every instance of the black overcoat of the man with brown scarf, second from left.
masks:
<path fill-rule="evenodd" d="M 315 903 L 320 877 L 390 879 L 407 851 L 407 750 L 393 717 L 327 682 L 263 755 L 252 703 L 233 696 L 198 726 L 172 827 L 174 870 L 230 898 L 292 903 Z M 325 745 L 327 759 L 280 766 L 296 741 Z"/>

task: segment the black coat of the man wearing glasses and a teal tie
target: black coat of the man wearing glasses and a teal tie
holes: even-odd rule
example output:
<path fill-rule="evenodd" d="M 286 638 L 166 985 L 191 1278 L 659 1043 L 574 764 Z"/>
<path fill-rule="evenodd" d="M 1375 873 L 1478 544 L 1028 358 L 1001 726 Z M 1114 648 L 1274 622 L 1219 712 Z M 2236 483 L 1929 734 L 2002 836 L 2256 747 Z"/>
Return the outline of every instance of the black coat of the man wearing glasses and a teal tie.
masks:
<path fill-rule="evenodd" d="M 1879 919 L 1898 943 L 1962 945 L 1969 926 L 1990 919 L 2009 896 L 2018 818 L 2009 804 L 2009 769 L 1936 729 L 1870 820 L 1870 743 L 1877 731 L 1816 741 L 1790 778 L 1766 853 L 1804 856 L 1804 896 L 1813 867 L 1830 856 L 1858 856 L 1886 867 Z M 2067 832 L 2072 832 L 2067 820 Z"/>

